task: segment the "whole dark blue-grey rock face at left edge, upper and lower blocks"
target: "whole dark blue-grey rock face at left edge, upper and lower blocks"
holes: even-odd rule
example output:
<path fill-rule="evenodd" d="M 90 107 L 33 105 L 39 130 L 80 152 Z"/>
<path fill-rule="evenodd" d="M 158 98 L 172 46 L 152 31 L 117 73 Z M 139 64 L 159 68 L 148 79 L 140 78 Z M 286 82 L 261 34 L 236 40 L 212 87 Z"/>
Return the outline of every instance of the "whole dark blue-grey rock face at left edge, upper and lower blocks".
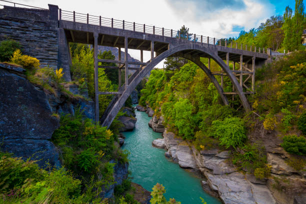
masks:
<path fill-rule="evenodd" d="M 50 139 L 59 126 L 52 116 L 46 94 L 27 79 L 0 69 L 0 137 L 2 151 L 38 165 L 60 165 L 58 152 Z"/>

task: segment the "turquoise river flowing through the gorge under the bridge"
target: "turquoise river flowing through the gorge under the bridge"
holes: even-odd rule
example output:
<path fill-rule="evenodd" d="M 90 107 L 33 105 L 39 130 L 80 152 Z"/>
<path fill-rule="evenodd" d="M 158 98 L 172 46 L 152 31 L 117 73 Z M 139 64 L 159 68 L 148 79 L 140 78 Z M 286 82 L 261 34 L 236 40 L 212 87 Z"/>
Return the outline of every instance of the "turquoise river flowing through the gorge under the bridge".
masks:
<path fill-rule="evenodd" d="M 161 138 L 161 133 L 154 132 L 149 126 L 145 112 L 135 111 L 136 126 L 133 131 L 123 132 L 125 136 L 123 149 L 130 152 L 129 170 L 132 181 L 151 191 L 157 182 L 165 186 L 164 196 L 174 197 L 181 204 L 201 203 L 200 197 L 207 204 L 221 202 L 205 193 L 200 184 L 200 178 L 180 168 L 177 163 L 169 161 L 164 156 L 164 149 L 152 147 L 152 140 Z"/>

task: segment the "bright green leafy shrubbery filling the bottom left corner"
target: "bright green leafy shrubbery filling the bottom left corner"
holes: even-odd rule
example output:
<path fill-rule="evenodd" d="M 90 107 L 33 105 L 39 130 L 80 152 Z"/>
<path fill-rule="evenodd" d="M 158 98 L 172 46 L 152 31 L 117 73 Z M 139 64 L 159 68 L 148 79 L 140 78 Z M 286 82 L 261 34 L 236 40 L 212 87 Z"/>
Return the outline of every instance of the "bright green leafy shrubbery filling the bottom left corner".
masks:
<path fill-rule="evenodd" d="M 63 167 L 46 171 L 34 161 L 0 155 L 0 203 L 85 203 L 80 181 Z"/>

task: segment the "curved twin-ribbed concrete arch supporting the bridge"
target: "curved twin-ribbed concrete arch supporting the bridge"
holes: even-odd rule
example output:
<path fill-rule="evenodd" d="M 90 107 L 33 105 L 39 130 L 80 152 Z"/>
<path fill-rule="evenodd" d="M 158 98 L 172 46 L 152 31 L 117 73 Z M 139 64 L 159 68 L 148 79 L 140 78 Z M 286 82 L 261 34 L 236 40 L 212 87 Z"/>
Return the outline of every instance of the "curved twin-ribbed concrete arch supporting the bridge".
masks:
<path fill-rule="evenodd" d="M 213 45 L 211 45 L 213 47 Z M 237 91 L 239 98 L 241 100 L 242 106 L 246 111 L 250 110 L 250 106 L 248 104 L 248 101 L 245 97 L 245 94 L 243 93 L 242 87 L 239 85 L 237 79 L 229 69 L 228 65 L 224 63 L 224 61 L 217 55 L 217 53 L 214 52 L 214 50 L 210 47 L 201 46 L 195 43 L 186 43 L 186 44 L 179 44 L 177 46 L 170 47 L 166 51 L 160 53 L 156 57 L 152 58 L 151 61 L 142 69 L 139 71 L 139 73 L 133 78 L 133 80 L 128 84 L 128 87 L 125 88 L 125 90 L 122 92 L 122 94 L 118 97 L 117 101 L 114 103 L 110 111 L 108 112 L 107 116 L 105 117 L 104 121 L 102 121 L 102 126 L 107 126 L 111 124 L 112 120 L 115 118 L 116 114 L 120 110 L 120 108 L 123 106 L 125 100 L 127 97 L 131 94 L 133 89 L 136 87 L 136 85 L 154 68 L 155 65 L 157 65 L 161 60 L 168 56 L 182 56 L 185 57 L 192 62 L 194 62 L 196 65 L 198 65 L 209 77 L 211 82 L 215 85 L 218 93 L 220 94 L 224 104 L 228 105 L 228 100 L 226 96 L 223 94 L 223 89 L 220 87 L 218 81 L 216 78 L 212 75 L 211 71 L 200 61 L 199 56 L 192 56 L 190 54 L 182 54 L 181 52 L 184 50 L 196 50 L 199 52 L 204 52 L 210 56 L 210 58 L 214 59 L 216 63 L 223 69 L 223 71 L 226 73 L 226 75 L 229 77 L 230 81 L 234 85 L 235 90 Z"/>

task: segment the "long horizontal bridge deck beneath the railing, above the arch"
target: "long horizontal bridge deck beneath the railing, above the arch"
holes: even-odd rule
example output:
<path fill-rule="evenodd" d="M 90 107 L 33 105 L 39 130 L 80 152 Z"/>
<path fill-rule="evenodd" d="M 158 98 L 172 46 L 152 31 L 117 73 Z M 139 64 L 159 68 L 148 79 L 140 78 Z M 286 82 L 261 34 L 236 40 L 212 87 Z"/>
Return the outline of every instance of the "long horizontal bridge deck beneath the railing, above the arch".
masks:
<path fill-rule="evenodd" d="M 213 49 L 215 52 L 218 53 L 218 56 L 220 56 L 224 60 L 226 59 L 227 52 L 229 52 L 230 61 L 238 61 L 240 55 L 243 55 L 243 62 L 248 61 L 253 56 L 256 57 L 256 60 L 264 60 L 268 58 L 267 53 L 231 48 L 230 44 L 227 46 L 220 46 L 216 44 L 211 44 L 210 41 L 208 41 L 208 44 L 207 40 L 206 42 L 192 41 L 183 38 L 162 36 L 158 34 L 143 33 L 139 31 L 87 24 L 69 20 L 60 20 L 59 27 L 65 30 L 67 40 L 70 42 L 93 44 L 94 32 L 98 33 L 98 45 L 103 46 L 124 47 L 124 37 L 127 36 L 128 48 L 150 50 L 150 43 L 151 41 L 154 41 L 154 51 L 156 52 L 156 55 L 167 50 L 168 46 L 175 46 L 178 44 L 185 43 L 196 43 Z M 233 44 L 232 46 L 235 45 Z M 192 54 L 194 54 L 194 52 Z M 205 53 L 198 53 L 198 55 L 201 57 L 209 57 Z"/>

